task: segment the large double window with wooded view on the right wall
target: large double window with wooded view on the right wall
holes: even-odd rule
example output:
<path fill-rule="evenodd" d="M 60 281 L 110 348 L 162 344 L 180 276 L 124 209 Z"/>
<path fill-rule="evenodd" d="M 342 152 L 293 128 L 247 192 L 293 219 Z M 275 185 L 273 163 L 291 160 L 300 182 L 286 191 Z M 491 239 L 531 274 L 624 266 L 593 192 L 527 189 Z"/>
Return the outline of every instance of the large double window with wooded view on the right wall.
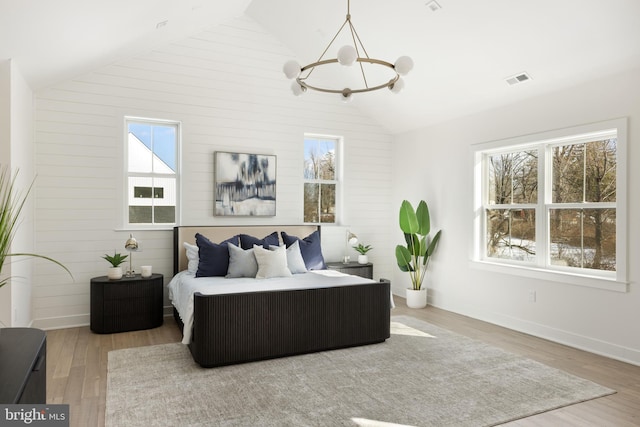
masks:
<path fill-rule="evenodd" d="M 482 144 L 476 260 L 626 280 L 624 120 Z"/>

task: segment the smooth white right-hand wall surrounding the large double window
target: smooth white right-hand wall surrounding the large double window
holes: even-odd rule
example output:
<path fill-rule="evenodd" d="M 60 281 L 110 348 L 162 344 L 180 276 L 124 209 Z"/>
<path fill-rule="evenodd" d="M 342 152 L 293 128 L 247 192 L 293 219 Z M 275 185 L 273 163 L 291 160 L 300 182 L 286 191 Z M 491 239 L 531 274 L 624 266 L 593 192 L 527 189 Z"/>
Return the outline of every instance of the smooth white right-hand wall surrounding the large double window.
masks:
<path fill-rule="evenodd" d="M 446 310 L 640 364 L 640 70 L 463 117 L 394 138 L 393 205 L 426 199 L 443 229 L 430 266 L 430 303 Z M 535 84 L 532 81 L 527 84 Z M 514 87 L 517 90 L 517 86 Z M 527 279 L 472 268 L 471 144 L 628 117 L 629 292 Z M 420 159 L 416 162 L 414 159 Z M 407 186 L 414 182 L 414 187 Z M 397 227 L 396 227 L 397 228 Z M 399 231 L 396 240 L 401 241 Z M 396 271 L 396 292 L 408 283 Z M 537 301 L 528 301 L 535 290 Z"/>

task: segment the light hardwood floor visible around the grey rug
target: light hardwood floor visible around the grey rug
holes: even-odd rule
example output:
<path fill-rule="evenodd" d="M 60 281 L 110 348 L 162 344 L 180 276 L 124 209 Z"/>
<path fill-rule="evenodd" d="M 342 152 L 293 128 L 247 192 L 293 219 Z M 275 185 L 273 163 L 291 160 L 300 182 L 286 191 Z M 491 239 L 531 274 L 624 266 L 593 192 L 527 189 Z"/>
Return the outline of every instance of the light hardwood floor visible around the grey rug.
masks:
<path fill-rule="evenodd" d="M 611 396 L 571 405 L 507 424 L 510 427 L 640 425 L 640 367 L 555 344 L 509 329 L 428 307 L 414 310 L 395 297 L 392 315 L 410 315 L 548 366 L 617 390 Z M 171 317 L 159 328 L 98 335 L 89 327 L 47 332 L 47 402 L 70 405 L 72 427 L 103 426 L 107 353 L 130 347 L 178 342 Z"/>

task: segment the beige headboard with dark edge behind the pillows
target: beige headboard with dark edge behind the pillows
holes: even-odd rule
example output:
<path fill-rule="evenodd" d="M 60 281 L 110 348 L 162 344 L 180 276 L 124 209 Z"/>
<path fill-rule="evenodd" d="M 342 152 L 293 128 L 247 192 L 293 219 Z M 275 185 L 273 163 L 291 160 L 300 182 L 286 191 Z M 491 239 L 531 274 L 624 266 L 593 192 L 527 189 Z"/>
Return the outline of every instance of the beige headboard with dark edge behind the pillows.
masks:
<path fill-rule="evenodd" d="M 278 239 L 282 244 L 281 231 L 300 238 L 306 237 L 316 230 L 319 225 L 207 225 L 207 226 L 179 226 L 173 228 L 173 274 L 187 269 L 187 252 L 183 242 L 196 244 L 196 233 L 200 233 L 214 243 L 235 236 L 249 234 L 259 239 L 278 232 Z"/>

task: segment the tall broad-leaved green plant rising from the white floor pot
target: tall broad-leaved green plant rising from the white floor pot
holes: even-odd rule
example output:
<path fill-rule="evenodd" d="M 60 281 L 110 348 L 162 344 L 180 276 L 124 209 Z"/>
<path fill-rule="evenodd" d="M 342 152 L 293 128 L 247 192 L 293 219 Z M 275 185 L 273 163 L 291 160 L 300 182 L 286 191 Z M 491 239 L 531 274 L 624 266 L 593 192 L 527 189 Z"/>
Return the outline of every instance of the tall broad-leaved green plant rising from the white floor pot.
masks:
<path fill-rule="evenodd" d="M 429 241 L 431 219 L 429 207 L 424 200 L 420 201 L 415 211 L 407 200 L 402 202 L 400 229 L 404 233 L 407 244 L 396 246 L 396 261 L 400 270 L 409 273 L 413 289 L 419 291 L 429 266 L 429 259 L 436 250 L 442 230 L 439 230 Z"/>

